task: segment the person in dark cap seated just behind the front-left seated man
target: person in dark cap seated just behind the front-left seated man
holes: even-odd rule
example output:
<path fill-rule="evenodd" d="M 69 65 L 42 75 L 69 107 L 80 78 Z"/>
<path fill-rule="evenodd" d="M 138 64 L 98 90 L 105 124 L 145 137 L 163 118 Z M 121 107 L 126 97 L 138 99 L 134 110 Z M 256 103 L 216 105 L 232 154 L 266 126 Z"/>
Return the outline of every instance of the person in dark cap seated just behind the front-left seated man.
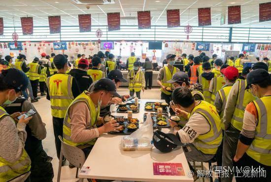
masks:
<path fill-rule="evenodd" d="M 109 54 L 110 55 L 110 54 Z M 123 78 L 123 74 L 120 70 L 112 70 L 109 72 L 109 74 L 107 75 L 107 78 L 113 80 L 116 84 L 116 88 L 119 88 L 119 86 L 121 85 L 122 82 L 127 82 L 127 79 Z M 90 85 L 90 87 L 88 88 L 89 92 L 92 92 L 94 90 L 94 85 L 97 83 L 97 81 L 95 81 L 94 83 L 92 83 Z M 110 115 L 110 105 L 111 104 L 119 104 L 123 101 L 126 101 L 126 99 L 128 99 L 130 97 L 130 95 L 123 95 L 121 96 L 121 98 L 118 97 L 114 97 L 112 98 L 111 102 L 104 106 L 101 107 L 101 111 L 100 111 L 100 116 L 106 116 L 106 115 Z"/>

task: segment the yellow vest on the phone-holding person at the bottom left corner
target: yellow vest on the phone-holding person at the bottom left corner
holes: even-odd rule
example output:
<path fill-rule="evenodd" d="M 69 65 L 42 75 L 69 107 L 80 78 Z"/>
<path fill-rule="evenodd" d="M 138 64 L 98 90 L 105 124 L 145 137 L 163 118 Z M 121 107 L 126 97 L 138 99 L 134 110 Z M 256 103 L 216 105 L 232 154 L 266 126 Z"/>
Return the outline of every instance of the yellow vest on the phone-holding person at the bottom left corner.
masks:
<path fill-rule="evenodd" d="M 4 110 L 3 107 L 0 106 L 0 119 L 5 115 L 8 115 L 8 113 Z M 28 173 L 30 168 L 31 159 L 25 149 L 23 149 L 19 160 L 13 163 L 8 162 L 4 158 L 0 157 L 0 182 L 14 180 L 17 177 Z"/>

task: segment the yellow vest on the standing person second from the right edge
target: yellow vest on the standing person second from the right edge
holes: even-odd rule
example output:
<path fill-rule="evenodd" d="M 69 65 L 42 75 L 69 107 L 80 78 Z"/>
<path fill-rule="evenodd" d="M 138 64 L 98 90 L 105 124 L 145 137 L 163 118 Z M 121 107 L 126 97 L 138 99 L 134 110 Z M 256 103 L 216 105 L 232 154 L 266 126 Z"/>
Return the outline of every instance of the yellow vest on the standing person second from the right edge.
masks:
<path fill-rule="evenodd" d="M 243 117 L 244 117 L 244 111 L 245 107 L 248 103 L 251 101 L 254 101 L 255 98 L 252 95 L 252 93 L 245 90 L 246 87 L 246 79 L 241 79 L 237 81 L 235 84 L 239 85 L 239 91 L 238 91 L 238 98 L 237 103 L 235 106 L 234 115 L 231 120 L 231 125 L 236 128 L 237 130 L 242 130 L 243 126 Z"/>

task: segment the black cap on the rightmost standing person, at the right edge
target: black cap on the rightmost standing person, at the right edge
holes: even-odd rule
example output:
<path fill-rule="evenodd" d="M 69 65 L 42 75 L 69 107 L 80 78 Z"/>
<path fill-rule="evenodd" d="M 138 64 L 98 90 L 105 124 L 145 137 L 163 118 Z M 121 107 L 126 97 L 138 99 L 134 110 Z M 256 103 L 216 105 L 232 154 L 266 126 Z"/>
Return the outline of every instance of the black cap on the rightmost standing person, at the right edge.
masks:
<path fill-rule="evenodd" d="M 251 84 L 260 83 L 266 79 L 270 79 L 269 73 L 264 69 L 257 69 L 247 74 L 246 81 L 247 86 L 245 89 L 249 89 Z"/>

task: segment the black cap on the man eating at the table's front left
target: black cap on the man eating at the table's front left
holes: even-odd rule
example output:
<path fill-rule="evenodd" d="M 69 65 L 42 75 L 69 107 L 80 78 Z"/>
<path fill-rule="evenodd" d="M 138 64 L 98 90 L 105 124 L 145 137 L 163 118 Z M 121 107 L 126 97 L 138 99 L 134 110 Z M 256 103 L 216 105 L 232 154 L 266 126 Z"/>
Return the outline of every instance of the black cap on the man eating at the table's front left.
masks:
<path fill-rule="evenodd" d="M 102 78 L 97 81 L 94 85 L 94 90 L 105 90 L 110 92 L 114 97 L 121 98 L 121 96 L 117 93 L 116 84 L 114 81 L 108 78 Z"/>

